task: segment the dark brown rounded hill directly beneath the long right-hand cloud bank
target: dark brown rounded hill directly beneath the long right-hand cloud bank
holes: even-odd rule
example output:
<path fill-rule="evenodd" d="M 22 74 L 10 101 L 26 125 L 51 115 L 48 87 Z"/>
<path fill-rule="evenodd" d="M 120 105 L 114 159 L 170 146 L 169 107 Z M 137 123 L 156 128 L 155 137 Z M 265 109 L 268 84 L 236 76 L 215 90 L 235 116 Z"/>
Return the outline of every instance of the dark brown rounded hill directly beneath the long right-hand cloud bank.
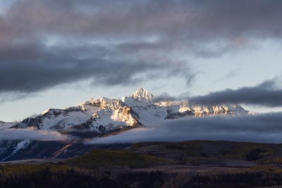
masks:
<path fill-rule="evenodd" d="M 183 161 L 184 158 L 218 158 L 256 161 L 282 157 L 281 144 L 260 144 L 252 142 L 228 142 L 192 140 L 185 142 L 143 142 L 130 146 L 137 151 L 169 160 Z"/>

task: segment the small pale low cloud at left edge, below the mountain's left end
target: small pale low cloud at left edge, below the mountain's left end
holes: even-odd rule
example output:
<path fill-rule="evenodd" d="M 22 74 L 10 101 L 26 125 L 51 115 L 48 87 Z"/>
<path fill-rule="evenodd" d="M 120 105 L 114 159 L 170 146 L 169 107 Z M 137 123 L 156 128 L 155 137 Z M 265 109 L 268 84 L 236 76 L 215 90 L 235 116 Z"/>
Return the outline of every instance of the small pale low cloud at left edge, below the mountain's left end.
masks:
<path fill-rule="evenodd" d="M 35 130 L 33 127 L 26 129 L 6 129 L 0 130 L 0 140 L 3 139 L 32 139 L 32 140 L 66 140 L 70 139 L 57 131 Z"/>

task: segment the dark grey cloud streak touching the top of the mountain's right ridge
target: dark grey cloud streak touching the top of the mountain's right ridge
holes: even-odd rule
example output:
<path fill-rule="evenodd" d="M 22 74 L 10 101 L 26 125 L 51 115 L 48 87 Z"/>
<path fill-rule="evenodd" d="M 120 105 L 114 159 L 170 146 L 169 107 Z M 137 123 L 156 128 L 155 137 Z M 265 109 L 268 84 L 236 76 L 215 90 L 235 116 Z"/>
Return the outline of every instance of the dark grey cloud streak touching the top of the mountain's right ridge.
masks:
<path fill-rule="evenodd" d="M 255 87 L 225 89 L 203 96 L 188 98 L 192 104 L 250 104 L 259 106 L 282 106 L 282 89 L 276 86 L 276 80 L 268 80 Z"/>

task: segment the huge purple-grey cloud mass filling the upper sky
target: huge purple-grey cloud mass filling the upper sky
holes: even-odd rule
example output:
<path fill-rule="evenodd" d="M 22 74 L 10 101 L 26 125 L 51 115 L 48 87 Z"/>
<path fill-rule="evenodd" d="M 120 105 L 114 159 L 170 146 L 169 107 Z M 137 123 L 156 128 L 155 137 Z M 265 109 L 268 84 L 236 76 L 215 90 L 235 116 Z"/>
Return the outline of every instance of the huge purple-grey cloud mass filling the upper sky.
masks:
<path fill-rule="evenodd" d="M 0 92 L 92 79 L 195 77 L 182 56 L 209 58 L 281 39 L 282 1 L 15 1 L 0 14 Z M 143 77 L 144 79 L 144 77 Z"/>

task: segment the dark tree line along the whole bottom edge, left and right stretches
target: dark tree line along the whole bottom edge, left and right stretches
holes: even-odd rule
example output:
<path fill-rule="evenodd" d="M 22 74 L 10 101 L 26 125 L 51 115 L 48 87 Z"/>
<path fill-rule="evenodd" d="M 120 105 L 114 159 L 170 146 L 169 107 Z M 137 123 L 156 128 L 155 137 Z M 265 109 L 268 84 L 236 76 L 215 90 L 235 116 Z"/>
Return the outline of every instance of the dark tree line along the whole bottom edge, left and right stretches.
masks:
<path fill-rule="evenodd" d="M 111 176 L 110 171 L 102 177 L 84 174 L 73 169 L 54 171 L 44 168 L 33 173 L 4 176 L 0 173 L 0 187 L 49 188 L 49 187 L 161 187 L 163 184 L 178 184 L 176 178 L 160 171 L 145 173 L 121 173 Z M 245 172 L 218 175 L 195 175 L 183 187 L 259 187 L 282 184 L 282 173 L 265 174 Z"/>

